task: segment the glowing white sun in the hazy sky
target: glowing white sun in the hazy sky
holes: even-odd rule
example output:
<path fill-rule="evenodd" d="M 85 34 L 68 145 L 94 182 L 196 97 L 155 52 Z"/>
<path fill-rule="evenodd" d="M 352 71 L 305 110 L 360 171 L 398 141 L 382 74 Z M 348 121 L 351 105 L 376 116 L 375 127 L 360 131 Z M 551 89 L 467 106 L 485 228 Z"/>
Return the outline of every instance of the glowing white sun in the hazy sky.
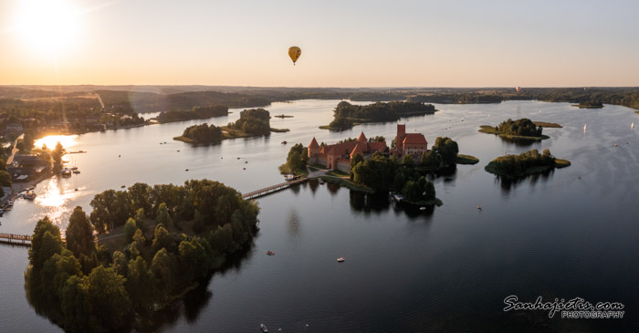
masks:
<path fill-rule="evenodd" d="M 62 51 L 78 36 L 79 11 L 70 0 L 20 0 L 16 9 L 18 37 L 40 51 Z"/>

